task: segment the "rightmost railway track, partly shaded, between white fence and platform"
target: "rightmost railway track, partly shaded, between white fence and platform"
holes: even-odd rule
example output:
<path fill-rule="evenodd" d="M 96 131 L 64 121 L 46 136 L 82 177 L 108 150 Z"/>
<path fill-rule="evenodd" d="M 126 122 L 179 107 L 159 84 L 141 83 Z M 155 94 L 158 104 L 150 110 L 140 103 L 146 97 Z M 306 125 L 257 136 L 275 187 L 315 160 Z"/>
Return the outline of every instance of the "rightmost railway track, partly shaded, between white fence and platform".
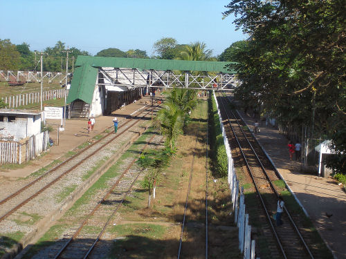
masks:
<path fill-rule="evenodd" d="M 240 119 L 239 114 L 233 113 L 228 108 L 228 99 L 223 95 L 219 95 L 217 100 L 221 104 L 221 117 L 229 140 L 233 140 L 230 146 L 237 148 L 242 154 L 243 161 L 246 164 L 246 166 L 243 166 L 243 169 L 246 169 L 251 176 L 257 198 L 262 207 L 262 211 L 259 213 L 265 215 L 266 226 L 271 230 L 271 239 L 276 242 L 276 246 L 268 247 L 271 251 L 271 258 L 318 258 L 313 256 L 310 247 L 304 240 L 300 229 L 295 223 L 295 220 L 293 220 L 293 216 L 287 207 L 284 207 L 284 213 L 282 215 L 284 224 L 282 226 L 277 227 L 271 219 L 273 213 L 276 212 L 277 198 L 279 195 L 273 181 L 280 180 L 280 177 L 253 138 L 253 135 L 243 130 L 245 124 Z M 268 231 L 266 234 L 268 236 Z"/>

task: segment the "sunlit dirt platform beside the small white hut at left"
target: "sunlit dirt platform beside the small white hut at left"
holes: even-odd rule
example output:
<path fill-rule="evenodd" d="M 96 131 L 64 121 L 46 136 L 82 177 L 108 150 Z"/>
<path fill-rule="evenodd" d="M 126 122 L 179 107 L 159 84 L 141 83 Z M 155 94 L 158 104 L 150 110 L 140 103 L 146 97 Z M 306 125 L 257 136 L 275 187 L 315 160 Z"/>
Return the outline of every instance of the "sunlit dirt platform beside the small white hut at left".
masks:
<path fill-rule="evenodd" d="M 92 139 L 96 135 L 102 133 L 105 129 L 113 126 L 113 118 L 118 117 L 119 124 L 127 115 L 131 115 L 135 111 L 145 106 L 145 102 L 151 102 L 149 96 L 144 96 L 142 99 L 129 104 L 125 109 L 118 109 L 113 111 L 108 116 L 95 117 L 95 126 L 93 131 L 88 133 L 87 120 L 86 119 L 66 119 L 64 131 L 59 133 L 59 142 L 57 140 L 57 128 L 60 125 L 60 119 L 47 119 L 48 126 L 53 127 L 53 131 L 49 134 L 54 141 L 54 145 L 49 148 L 49 151 L 42 153 L 35 160 L 28 162 L 26 166 L 21 169 L 14 169 L 8 171 L 0 171 L 0 178 L 24 178 L 31 173 L 41 169 L 43 166 L 51 164 L 54 160 L 59 159 L 62 155 L 73 151 L 87 140 Z"/>

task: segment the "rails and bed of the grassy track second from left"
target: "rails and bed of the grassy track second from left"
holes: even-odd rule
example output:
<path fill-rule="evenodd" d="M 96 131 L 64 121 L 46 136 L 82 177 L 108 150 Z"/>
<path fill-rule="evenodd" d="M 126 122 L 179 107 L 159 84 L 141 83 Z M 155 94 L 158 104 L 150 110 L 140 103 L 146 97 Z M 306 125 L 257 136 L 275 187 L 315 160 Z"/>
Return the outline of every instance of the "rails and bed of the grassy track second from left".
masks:
<path fill-rule="evenodd" d="M 141 149 L 140 153 L 143 153 L 145 148 L 152 142 L 152 140 L 156 137 L 156 135 L 153 135 L 145 144 L 145 146 Z M 158 141 L 158 144 L 160 144 L 163 140 L 163 137 L 161 137 L 161 140 Z M 139 154 L 140 155 L 140 154 Z M 138 155 L 138 156 L 139 156 Z M 140 169 L 139 173 L 134 173 L 130 171 L 131 167 L 134 165 L 134 162 L 138 159 L 138 156 L 136 156 L 131 162 L 129 162 L 127 168 L 125 171 L 121 173 L 119 178 L 116 180 L 116 182 L 111 186 L 109 191 L 103 196 L 103 198 L 96 204 L 96 206 L 93 208 L 93 210 L 86 215 L 85 220 L 80 224 L 80 227 L 73 233 L 71 238 L 67 240 L 67 242 L 62 246 L 62 248 L 57 251 L 57 253 L 54 256 L 54 259 L 57 258 L 89 258 L 91 256 L 91 253 L 95 249 L 98 242 L 101 240 L 102 235 L 106 228 L 111 223 L 113 216 L 118 212 L 118 209 L 124 202 L 127 195 L 131 192 L 132 187 L 138 180 L 140 174 L 142 173 L 143 169 Z M 111 211 L 109 214 L 109 202 L 116 203 L 116 208 Z M 94 226 L 95 221 L 92 222 L 93 215 L 98 212 L 98 218 L 100 218 L 100 215 L 102 217 L 107 218 L 106 222 L 102 222 L 102 226 L 100 227 L 102 230 L 98 233 L 94 234 L 85 234 L 83 236 L 82 230 L 84 227 L 88 226 L 88 222 L 91 222 L 91 224 Z M 108 214 L 108 215 L 106 215 Z M 96 220 L 98 222 L 99 220 Z M 99 223 L 99 222 L 98 222 Z M 79 237 L 79 238 L 78 238 Z M 82 243 L 82 244 L 81 244 Z"/>

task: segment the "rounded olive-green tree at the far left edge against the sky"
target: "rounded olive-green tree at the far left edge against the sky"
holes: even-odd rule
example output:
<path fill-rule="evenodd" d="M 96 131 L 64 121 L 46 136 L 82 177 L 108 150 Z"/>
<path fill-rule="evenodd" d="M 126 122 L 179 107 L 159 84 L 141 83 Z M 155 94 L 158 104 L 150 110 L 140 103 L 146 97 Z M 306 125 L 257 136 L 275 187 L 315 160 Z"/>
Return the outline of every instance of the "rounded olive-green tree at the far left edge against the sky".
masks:
<path fill-rule="evenodd" d="M 0 70 L 17 70 L 20 53 L 10 39 L 0 39 Z"/>

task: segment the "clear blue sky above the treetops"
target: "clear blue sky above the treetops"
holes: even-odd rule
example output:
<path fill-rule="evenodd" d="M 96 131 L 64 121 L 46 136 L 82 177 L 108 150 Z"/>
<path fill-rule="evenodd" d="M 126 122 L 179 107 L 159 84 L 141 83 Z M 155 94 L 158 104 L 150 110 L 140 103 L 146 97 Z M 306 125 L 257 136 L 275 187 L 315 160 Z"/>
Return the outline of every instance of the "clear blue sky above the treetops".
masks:
<path fill-rule="evenodd" d="M 147 50 L 162 37 L 179 44 L 203 41 L 214 55 L 235 41 L 233 17 L 222 20 L 230 0 L 0 0 L 0 39 L 26 42 L 30 50 L 57 41 L 95 55 L 105 48 Z"/>

